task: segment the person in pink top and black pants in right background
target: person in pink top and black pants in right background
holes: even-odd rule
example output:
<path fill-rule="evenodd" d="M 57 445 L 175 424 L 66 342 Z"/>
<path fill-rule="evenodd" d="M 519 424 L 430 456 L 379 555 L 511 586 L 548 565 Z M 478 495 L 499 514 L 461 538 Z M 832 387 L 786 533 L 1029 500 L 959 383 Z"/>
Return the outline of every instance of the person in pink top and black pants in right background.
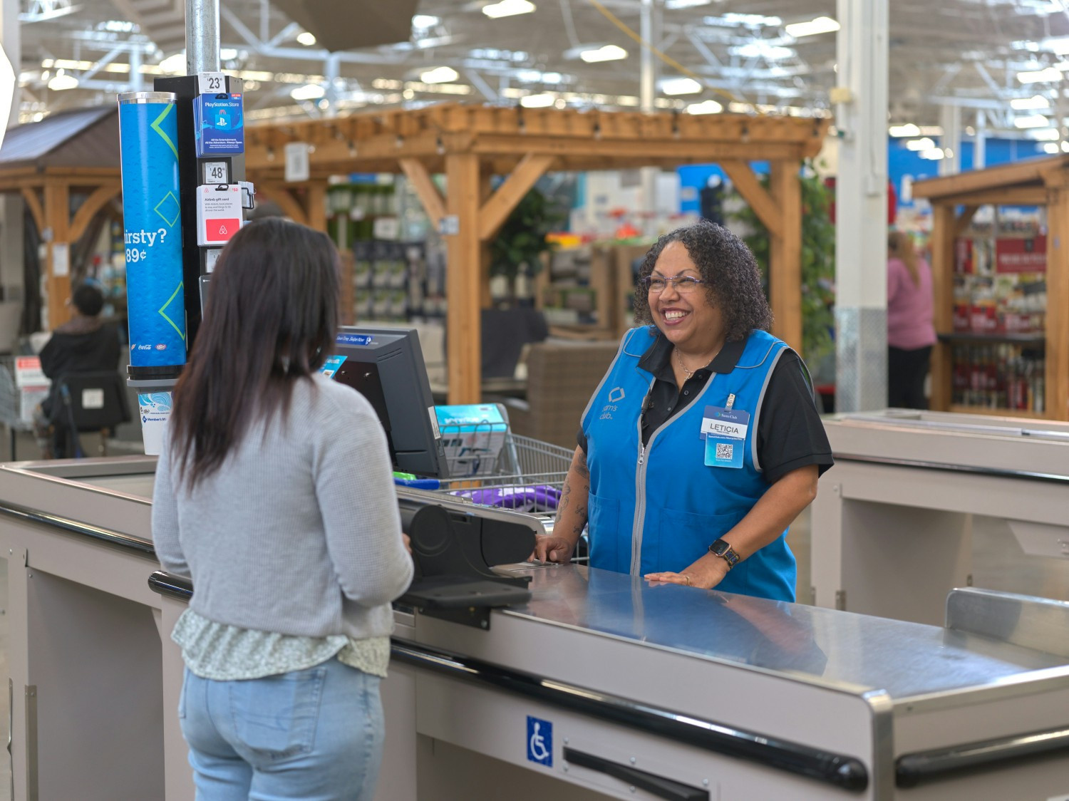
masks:
<path fill-rule="evenodd" d="M 925 378 L 935 344 L 932 271 L 901 231 L 887 236 L 887 405 L 928 409 Z"/>

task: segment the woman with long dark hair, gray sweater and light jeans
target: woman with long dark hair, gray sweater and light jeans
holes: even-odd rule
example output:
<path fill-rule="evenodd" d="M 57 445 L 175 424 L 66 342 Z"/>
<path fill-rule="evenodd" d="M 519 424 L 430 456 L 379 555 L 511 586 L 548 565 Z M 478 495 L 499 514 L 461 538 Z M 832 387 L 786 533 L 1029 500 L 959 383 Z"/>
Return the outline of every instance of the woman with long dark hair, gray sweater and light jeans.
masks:
<path fill-rule="evenodd" d="M 174 389 L 152 527 L 193 582 L 172 637 L 199 800 L 374 795 L 390 601 L 413 565 L 374 410 L 319 372 L 338 282 L 325 234 L 246 226 Z"/>

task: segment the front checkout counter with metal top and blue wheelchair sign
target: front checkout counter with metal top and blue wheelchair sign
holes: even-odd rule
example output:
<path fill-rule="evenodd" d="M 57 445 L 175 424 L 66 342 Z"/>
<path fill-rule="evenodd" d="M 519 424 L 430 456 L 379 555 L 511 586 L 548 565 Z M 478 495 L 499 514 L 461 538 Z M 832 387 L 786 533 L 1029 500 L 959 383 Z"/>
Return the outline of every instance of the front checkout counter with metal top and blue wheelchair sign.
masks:
<path fill-rule="evenodd" d="M 0 465 L 14 796 L 186 801 L 155 460 Z M 479 514 L 476 509 L 472 514 Z M 510 566 L 485 627 L 398 609 L 376 801 L 1052 799 L 1069 605 L 965 589 L 925 626 Z"/>

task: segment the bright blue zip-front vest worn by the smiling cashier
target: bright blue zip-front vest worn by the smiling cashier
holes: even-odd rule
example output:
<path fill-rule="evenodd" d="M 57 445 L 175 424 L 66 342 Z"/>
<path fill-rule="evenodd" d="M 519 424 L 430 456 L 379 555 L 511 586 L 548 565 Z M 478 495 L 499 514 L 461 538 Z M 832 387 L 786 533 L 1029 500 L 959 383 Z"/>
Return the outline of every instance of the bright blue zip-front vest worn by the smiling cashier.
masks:
<path fill-rule="evenodd" d="M 654 376 L 638 367 L 656 339 L 632 328 L 583 414 L 590 469 L 590 567 L 642 575 L 680 571 L 739 523 L 770 484 L 757 464 L 757 427 L 764 389 L 787 344 L 756 330 L 730 373 L 713 373 L 691 403 L 654 431 L 642 464 L 641 409 Z M 741 468 L 706 465 L 706 406 L 749 413 Z M 740 561 L 717 589 L 794 600 L 794 555 L 787 532 Z"/>

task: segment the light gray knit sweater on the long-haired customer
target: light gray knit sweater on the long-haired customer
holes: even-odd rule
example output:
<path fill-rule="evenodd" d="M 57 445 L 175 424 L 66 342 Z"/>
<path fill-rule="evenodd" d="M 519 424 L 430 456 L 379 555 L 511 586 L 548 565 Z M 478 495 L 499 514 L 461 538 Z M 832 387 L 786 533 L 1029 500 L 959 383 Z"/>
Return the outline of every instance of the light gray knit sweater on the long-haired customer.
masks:
<path fill-rule="evenodd" d="M 359 392 L 298 381 L 290 414 L 251 427 L 190 493 L 156 468 L 152 538 L 193 580 L 190 607 L 220 623 L 304 636 L 392 631 L 412 581 L 386 435 Z"/>

